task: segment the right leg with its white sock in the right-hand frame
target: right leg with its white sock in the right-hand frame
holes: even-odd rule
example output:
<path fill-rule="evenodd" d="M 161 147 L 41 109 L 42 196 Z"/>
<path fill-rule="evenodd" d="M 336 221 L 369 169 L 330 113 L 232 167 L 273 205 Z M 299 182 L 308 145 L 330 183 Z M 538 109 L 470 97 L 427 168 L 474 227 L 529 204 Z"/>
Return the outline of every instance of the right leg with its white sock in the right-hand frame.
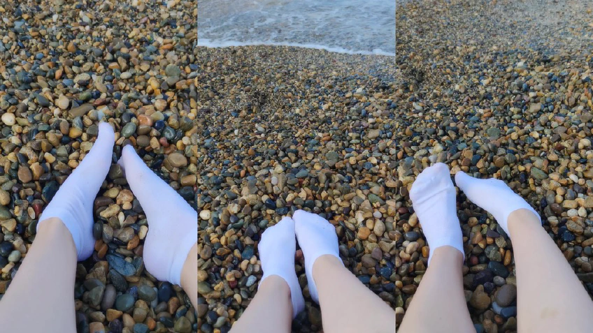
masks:
<path fill-rule="evenodd" d="M 591 332 L 593 302 L 537 212 L 501 180 L 458 172 L 455 182 L 513 239 L 519 332 Z"/>

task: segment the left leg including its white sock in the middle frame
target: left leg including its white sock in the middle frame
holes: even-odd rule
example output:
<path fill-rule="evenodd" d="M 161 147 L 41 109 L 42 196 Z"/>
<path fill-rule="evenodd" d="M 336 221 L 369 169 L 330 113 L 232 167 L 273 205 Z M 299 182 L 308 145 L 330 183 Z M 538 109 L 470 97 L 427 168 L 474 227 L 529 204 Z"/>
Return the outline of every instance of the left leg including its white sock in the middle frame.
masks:
<path fill-rule="evenodd" d="M 285 217 L 267 228 L 258 249 L 264 276 L 257 294 L 231 332 L 290 333 L 292 318 L 305 307 L 294 271 L 294 221 Z"/>

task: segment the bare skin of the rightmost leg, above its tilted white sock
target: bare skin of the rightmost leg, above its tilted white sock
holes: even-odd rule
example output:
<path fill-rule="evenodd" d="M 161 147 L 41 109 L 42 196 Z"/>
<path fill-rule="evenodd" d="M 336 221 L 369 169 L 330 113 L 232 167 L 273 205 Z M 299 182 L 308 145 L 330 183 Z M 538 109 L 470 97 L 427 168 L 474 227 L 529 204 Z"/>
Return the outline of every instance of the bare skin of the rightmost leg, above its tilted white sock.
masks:
<path fill-rule="evenodd" d="M 593 302 L 540 221 L 527 209 L 508 216 L 517 267 L 519 332 L 591 332 Z"/>

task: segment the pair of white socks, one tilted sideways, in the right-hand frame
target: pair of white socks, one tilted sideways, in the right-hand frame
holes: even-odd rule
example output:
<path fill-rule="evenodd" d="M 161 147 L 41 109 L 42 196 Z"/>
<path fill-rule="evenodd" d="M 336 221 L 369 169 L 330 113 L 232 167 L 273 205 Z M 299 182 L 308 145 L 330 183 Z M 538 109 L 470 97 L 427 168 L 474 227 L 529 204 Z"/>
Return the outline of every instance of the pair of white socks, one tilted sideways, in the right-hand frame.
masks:
<path fill-rule="evenodd" d="M 459 171 L 455 183 L 469 200 L 490 212 L 509 237 L 510 213 L 529 209 L 539 219 L 535 209 L 499 179 L 477 179 Z M 452 246 L 465 255 L 455 197 L 455 186 L 444 163 L 423 170 L 410 190 L 414 211 L 430 246 L 429 263 L 434 250 L 441 246 Z"/>

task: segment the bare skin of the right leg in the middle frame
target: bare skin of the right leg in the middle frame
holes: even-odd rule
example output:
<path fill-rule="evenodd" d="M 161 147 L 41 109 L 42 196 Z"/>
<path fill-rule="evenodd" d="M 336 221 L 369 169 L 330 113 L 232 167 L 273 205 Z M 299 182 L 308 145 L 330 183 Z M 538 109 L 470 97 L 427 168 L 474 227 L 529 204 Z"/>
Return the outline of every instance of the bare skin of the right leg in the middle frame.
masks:
<path fill-rule="evenodd" d="M 395 333 L 395 312 L 331 255 L 313 264 L 323 330 Z"/>

